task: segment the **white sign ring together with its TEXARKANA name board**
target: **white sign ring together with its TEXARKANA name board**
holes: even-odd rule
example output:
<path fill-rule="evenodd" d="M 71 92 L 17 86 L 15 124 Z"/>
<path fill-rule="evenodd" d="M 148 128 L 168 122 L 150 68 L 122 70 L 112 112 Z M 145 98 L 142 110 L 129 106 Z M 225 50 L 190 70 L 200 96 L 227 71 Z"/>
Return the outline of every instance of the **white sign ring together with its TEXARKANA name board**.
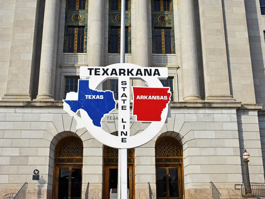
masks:
<path fill-rule="evenodd" d="M 152 88 L 164 88 L 163 85 L 161 84 L 161 82 L 158 79 L 157 75 L 154 75 L 153 71 L 154 71 L 154 67 L 141 67 L 135 64 L 129 64 L 129 63 L 120 63 L 120 64 L 112 64 L 103 68 L 109 68 L 109 71 L 111 71 L 111 69 L 115 68 L 117 71 L 119 69 L 122 69 L 123 71 L 127 71 L 130 69 L 134 69 L 134 70 L 143 70 L 143 69 L 152 69 L 149 71 L 151 73 L 151 75 L 149 74 L 148 76 L 136 76 L 135 73 L 131 72 L 129 73 L 129 76 L 123 75 L 123 73 L 120 75 L 119 73 L 117 74 L 117 76 L 109 76 L 108 75 L 93 75 L 91 73 L 90 70 L 91 67 L 82 67 L 80 69 L 80 77 L 82 78 L 87 78 L 89 77 L 89 88 L 96 90 L 96 88 L 98 87 L 98 85 L 100 85 L 103 81 L 105 81 L 106 79 L 119 79 L 119 78 L 128 78 L 129 79 L 141 79 L 142 81 L 144 81 L 149 87 Z M 104 70 L 105 70 L 104 69 Z M 167 77 L 167 68 L 165 67 L 160 67 L 157 68 L 158 70 L 160 70 L 160 78 L 166 78 Z M 87 71 L 90 70 L 89 74 L 87 75 Z M 97 71 L 96 74 L 99 74 L 99 72 Z M 133 74 L 133 76 L 132 76 Z M 128 74 L 127 74 L 128 75 Z M 127 96 L 129 98 L 129 96 Z M 118 106 L 121 106 L 121 102 L 119 101 Z M 133 135 L 133 136 L 126 136 L 126 142 L 121 142 L 121 137 L 120 136 L 115 136 L 112 135 L 106 131 L 104 131 L 101 127 L 95 126 L 92 122 L 92 119 L 89 117 L 88 113 L 83 110 L 80 109 L 80 114 L 81 114 L 81 118 L 83 121 L 83 124 L 85 125 L 87 131 L 90 132 L 90 134 L 99 142 L 101 142 L 104 145 L 113 147 L 113 148 L 119 148 L 119 149 L 129 149 L 129 148 L 135 148 L 137 146 L 141 146 L 147 142 L 149 142 L 150 140 L 152 140 L 157 133 L 161 130 L 161 128 L 163 127 L 166 118 L 167 118 L 167 111 L 168 111 L 168 106 L 169 103 L 166 104 L 166 107 L 162 110 L 161 113 L 161 121 L 153 121 L 150 123 L 150 125 L 142 132 Z M 127 116 L 128 118 L 130 117 L 130 115 Z M 120 117 L 119 117 L 120 119 Z M 120 128 L 120 126 L 119 126 Z M 130 128 L 130 126 L 129 126 Z M 128 129 L 130 131 L 130 129 Z"/>

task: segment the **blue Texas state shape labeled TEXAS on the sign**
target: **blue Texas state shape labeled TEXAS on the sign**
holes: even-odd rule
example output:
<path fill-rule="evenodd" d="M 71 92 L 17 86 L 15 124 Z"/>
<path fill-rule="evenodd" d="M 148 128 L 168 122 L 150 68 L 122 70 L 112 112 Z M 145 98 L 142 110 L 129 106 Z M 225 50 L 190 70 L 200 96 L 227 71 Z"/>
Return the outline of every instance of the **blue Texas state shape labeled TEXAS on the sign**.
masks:
<path fill-rule="evenodd" d="M 92 119 L 95 126 L 101 127 L 102 118 L 116 109 L 116 101 L 112 91 L 97 91 L 89 88 L 89 80 L 79 80 L 78 100 L 64 100 L 70 109 L 77 113 L 83 109 Z"/>

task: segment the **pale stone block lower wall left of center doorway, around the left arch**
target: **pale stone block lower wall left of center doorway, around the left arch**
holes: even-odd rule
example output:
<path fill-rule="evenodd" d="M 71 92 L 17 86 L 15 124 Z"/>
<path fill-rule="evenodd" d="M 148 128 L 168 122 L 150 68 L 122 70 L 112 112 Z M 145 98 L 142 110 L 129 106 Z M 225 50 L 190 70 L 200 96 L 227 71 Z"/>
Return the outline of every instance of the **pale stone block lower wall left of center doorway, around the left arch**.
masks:
<path fill-rule="evenodd" d="M 102 196 L 103 146 L 61 107 L 0 107 L 0 192 L 14 197 L 28 183 L 27 198 L 51 198 L 54 150 L 67 136 L 83 140 L 82 192 L 90 182 L 90 197 Z M 33 170 L 40 180 L 32 180 Z"/>

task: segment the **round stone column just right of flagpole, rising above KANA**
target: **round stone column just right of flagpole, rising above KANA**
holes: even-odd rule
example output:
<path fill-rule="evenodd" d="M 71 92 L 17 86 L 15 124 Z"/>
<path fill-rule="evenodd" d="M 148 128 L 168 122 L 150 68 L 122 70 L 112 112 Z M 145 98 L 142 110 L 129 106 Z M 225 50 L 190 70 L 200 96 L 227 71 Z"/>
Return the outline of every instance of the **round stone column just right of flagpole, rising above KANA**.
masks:
<path fill-rule="evenodd" d="M 135 0 L 135 64 L 150 67 L 150 35 L 148 1 Z M 133 86 L 146 86 L 133 80 Z"/>

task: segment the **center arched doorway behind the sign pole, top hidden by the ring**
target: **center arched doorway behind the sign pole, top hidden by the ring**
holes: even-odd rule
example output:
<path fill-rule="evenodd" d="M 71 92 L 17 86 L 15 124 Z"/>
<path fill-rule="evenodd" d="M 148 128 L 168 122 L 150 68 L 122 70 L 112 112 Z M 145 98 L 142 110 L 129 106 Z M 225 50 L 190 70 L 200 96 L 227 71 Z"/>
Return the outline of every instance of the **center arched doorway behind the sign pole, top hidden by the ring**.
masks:
<path fill-rule="evenodd" d="M 127 187 L 129 198 L 134 199 L 134 149 L 127 150 Z M 118 149 L 108 146 L 104 148 L 104 184 L 103 199 L 109 199 L 111 189 L 118 184 Z"/>

